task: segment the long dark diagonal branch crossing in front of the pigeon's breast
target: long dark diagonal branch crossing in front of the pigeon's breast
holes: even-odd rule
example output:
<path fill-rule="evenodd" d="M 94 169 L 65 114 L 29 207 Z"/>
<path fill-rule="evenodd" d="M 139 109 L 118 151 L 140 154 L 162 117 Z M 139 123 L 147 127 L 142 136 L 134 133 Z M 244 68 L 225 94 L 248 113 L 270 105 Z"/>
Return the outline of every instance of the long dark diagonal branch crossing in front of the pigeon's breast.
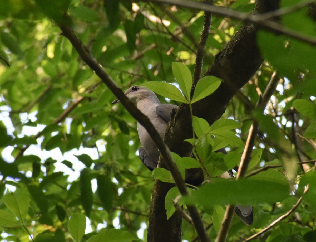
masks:
<path fill-rule="evenodd" d="M 115 84 L 113 79 L 109 74 L 103 69 L 103 67 L 98 63 L 94 56 L 90 53 L 88 48 L 81 42 L 77 37 L 74 30 L 68 26 L 59 25 L 59 28 L 63 31 L 63 35 L 71 42 L 72 46 L 76 49 L 80 57 L 84 62 L 98 75 L 98 77 L 107 85 L 107 87 L 112 91 L 112 93 L 119 99 L 120 103 L 125 107 L 125 109 L 146 129 L 150 137 L 154 140 L 156 146 L 158 147 L 164 161 L 167 164 L 168 170 L 171 172 L 173 179 L 180 191 L 181 195 L 190 196 L 189 190 L 187 189 L 185 182 L 181 176 L 181 173 L 173 161 L 171 152 L 163 142 L 159 133 L 150 122 L 149 118 L 145 116 L 137 107 L 125 96 L 123 91 Z M 195 229 L 201 241 L 210 241 L 208 234 L 203 226 L 200 214 L 194 205 L 187 206 L 191 218 L 193 220 Z"/>

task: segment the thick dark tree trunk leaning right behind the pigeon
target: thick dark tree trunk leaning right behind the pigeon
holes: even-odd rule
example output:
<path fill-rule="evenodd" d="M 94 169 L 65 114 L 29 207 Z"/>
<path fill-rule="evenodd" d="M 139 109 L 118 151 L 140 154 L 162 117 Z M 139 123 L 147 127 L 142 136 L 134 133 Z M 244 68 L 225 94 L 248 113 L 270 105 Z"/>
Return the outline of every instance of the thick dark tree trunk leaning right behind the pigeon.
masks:
<path fill-rule="evenodd" d="M 253 14 L 275 10 L 278 6 L 279 1 L 257 0 Z M 193 105 L 193 115 L 204 118 L 211 125 L 222 116 L 231 98 L 258 70 L 263 59 L 256 45 L 256 29 L 253 24 L 245 23 L 216 55 L 214 63 L 205 75 L 222 78 L 223 83 L 212 95 Z M 189 107 L 182 104 L 177 113 L 172 114 L 165 135 L 165 142 L 170 150 L 182 157 L 191 153 L 191 145 L 183 141 L 192 136 L 191 119 L 188 117 L 190 117 Z M 159 166 L 166 167 L 161 159 Z M 201 174 L 194 173 L 199 178 Z M 188 179 L 192 177 L 187 177 L 186 180 Z M 166 219 L 164 202 L 170 188 L 170 184 L 155 180 L 149 214 L 148 241 L 181 241 L 182 239 L 181 215 L 175 213 L 169 220 Z"/>

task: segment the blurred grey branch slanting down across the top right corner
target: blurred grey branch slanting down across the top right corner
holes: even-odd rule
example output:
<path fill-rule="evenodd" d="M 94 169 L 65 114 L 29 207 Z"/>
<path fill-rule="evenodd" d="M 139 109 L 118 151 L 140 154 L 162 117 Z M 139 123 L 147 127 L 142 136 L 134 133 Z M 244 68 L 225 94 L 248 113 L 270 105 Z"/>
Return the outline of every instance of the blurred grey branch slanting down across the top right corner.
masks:
<path fill-rule="evenodd" d="M 247 13 L 241 13 L 239 11 L 233 10 L 233 9 L 227 9 L 219 6 L 214 5 L 208 5 L 205 3 L 199 3 L 194 2 L 190 0 L 150 0 L 151 2 L 161 2 L 161 3 L 167 3 L 167 4 L 173 4 L 177 6 L 187 7 L 191 9 L 199 9 L 204 10 L 208 12 L 212 12 L 216 15 L 231 17 L 234 19 L 238 19 L 244 22 L 249 22 L 252 24 L 255 24 L 261 28 L 265 28 L 268 30 L 272 30 L 276 34 L 285 34 L 289 37 L 292 37 L 297 40 L 304 41 L 311 45 L 316 45 L 316 38 L 307 36 L 305 34 L 301 34 L 298 31 L 292 30 L 290 28 L 287 28 L 279 23 L 276 23 L 272 20 L 269 20 L 265 18 L 265 16 L 262 16 L 261 14 L 258 15 L 251 15 Z"/>

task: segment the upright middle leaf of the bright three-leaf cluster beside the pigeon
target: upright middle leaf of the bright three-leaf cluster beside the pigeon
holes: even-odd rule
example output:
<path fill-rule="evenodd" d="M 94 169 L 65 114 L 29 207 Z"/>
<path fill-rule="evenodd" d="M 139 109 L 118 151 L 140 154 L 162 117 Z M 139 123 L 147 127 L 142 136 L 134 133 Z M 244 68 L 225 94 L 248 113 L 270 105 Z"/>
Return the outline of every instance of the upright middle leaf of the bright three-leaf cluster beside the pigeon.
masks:
<path fill-rule="evenodd" d="M 180 89 L 190 100 L 191 98 L 191 88 L 192 88 L 192 75 L 189 68 L 179 62 L 173 62 L 172 63 L 172 72 L 174 77 L 177 80 L 177 83 L 179 84 Z"/>

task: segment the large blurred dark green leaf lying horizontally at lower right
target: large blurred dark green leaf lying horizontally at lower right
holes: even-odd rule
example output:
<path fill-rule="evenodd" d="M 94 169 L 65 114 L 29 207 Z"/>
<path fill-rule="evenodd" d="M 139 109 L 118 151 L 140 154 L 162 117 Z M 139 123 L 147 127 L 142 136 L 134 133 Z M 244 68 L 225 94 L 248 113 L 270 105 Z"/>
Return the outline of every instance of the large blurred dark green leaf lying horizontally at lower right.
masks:
<path fill-rule="evenodd" d="M 225 192 L 223 192 L 225 191 Z M 187 202 L 203 206 L 214 204 L 258 204 L 281 202 L 289 196 L 289 185 L 279 180 L 248 178 L 240 180 L 221 179 L 204 184 L 192 194 Z"/>

